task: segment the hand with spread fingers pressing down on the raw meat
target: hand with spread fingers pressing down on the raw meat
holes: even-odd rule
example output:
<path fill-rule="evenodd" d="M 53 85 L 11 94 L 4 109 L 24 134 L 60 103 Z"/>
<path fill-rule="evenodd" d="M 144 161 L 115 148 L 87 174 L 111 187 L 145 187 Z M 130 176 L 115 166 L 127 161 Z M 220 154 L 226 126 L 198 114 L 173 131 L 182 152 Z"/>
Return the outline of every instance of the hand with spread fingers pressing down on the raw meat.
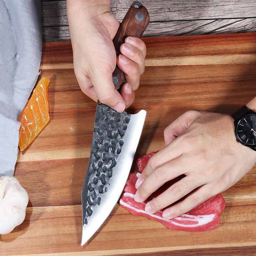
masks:
<path fill-rule="evenodd" d="M 255 109 L 252 102 L 247 108 Z M 187 111 L 165 129 L 164 142 L 138 178 L 134 200 L 144 202 L 164 183 L 183 175 L 145 206 L 148 213 L 165 208 L 165 219 L 230 188 L 256 162 L 256 151 L 236 141 L 234 118 L 226 114 Z"/>

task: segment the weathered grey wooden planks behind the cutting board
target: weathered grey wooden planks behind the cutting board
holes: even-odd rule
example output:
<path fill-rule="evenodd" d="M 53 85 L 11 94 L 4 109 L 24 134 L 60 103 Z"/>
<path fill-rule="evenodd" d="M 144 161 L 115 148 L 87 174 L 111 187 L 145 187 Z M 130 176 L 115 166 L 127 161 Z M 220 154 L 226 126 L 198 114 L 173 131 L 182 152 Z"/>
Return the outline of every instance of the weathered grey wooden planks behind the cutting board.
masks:
<path fill-rule="evenodd" d="M 111 1 L 111 12 L 122 21 L 133 1 Z M 141 1 L 150 23 L 144 37 L 256 32 L 255 0 Z M 66 0 L 42 0 L 44 42 L 69 41 Z"/>

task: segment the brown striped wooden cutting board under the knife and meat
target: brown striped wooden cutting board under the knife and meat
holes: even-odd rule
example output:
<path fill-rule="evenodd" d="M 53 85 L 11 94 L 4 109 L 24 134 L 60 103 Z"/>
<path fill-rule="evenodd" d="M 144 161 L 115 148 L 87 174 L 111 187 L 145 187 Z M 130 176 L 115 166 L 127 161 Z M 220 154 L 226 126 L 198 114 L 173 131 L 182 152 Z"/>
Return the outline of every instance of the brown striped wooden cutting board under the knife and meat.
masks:
<path fill-rule="evenodd" d="M 189 109 L 231 114 L 255 96 L 256 34 L 144 38 L 146 70 L 127 112 L 147 111 L 136 158 L 164 146 L 164 128 Z M 81 189 L 96 103 L 79 89 L 70 42 L 45 43 L 50 123 L 19 152 L 14 176 L 27 190 L 25 221 L 0 235 L 0 255 L 255 255 L 256 169 L 223 192 L 218 228 L 172 231 L 116 204 L 81 247 Z M 135 171 L 135 164 L 132 167 Z"/>

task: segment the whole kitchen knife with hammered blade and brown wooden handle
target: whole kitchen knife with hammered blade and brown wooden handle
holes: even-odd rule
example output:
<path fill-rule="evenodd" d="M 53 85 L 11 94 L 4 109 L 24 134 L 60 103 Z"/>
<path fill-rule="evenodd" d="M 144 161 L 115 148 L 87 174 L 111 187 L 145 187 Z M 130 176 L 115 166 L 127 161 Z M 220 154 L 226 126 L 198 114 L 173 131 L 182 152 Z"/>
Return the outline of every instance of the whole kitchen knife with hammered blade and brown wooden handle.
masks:
<path fill-rule="evenodd" d="M 126 13 L 113 43 L 117 56 L 127 36 L 141 37 L 149 23 L 145 6 L 135 1 Z M 120 90 L 124 74 L 116 67 L 113 83 Z M 114 209 L 129 176 L 133 158 L 140 140 L 146 111 L 131 115 L 118 113 L 98 102 L 92 149 L 81 191 L 83 209 L 84 245 L 100 228 Z"/>

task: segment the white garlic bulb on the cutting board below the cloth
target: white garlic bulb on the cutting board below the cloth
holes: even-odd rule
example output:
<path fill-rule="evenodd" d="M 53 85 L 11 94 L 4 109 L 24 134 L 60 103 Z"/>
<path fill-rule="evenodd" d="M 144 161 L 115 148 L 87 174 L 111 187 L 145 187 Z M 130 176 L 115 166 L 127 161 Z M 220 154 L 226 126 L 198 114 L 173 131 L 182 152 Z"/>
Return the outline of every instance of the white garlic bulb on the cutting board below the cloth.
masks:
<path fill-rule="evenodd" d="M 28 193 L 13 176 L 0 175 L 0 234 L 8 234 L 25 219 Z"/>

